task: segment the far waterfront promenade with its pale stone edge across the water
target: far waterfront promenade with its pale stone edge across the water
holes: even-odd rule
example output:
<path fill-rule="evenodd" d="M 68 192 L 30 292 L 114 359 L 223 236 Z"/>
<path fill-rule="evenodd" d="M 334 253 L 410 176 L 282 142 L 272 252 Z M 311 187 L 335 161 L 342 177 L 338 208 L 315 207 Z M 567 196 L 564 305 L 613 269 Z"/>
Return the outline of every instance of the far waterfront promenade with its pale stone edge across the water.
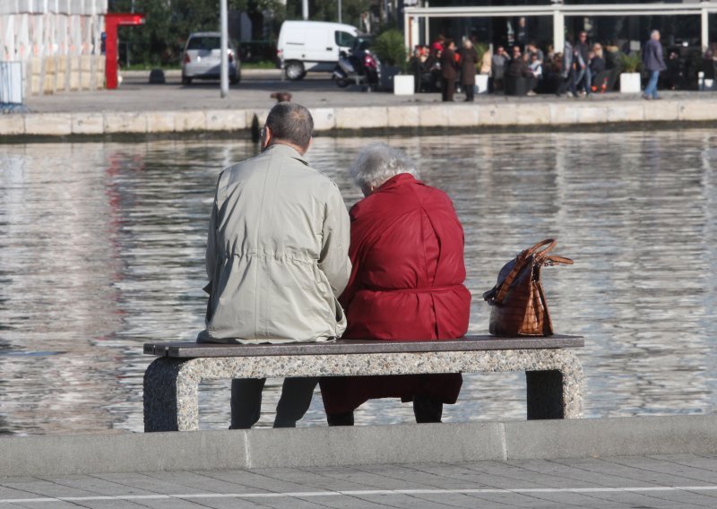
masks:
<path fill-rule="evenodd" d="M 282 82 L 278 71 L 245 71 L 243 81 L 220 98 L 217 82 L 183 86 L 177 73 L 167 83 L 151 85 L 148 73 L 129 73 L 116 91 L 91 91 L 31 97 L 30 113 L 0 116 L 6 141 L 24 137 L 120 136 L 227 133 L 248 137 L 253 123 L 261 125 L 275 103 L 270 95 L 289 91 L 293 100 L 311 108 L 318 134 L 374 132 L 434 133 L 436 129 L 495 131 L 548 130 L 576 125 L 624 125 L 681 122 L 717 125 L 717 92 L 665 91 L 662 100 L 639 94 L 595 94 L 568 99 L 477 96 L 475 103 L 440 102 L 439 94 L 394 96 L 339 89 L 325 75 L 301 82 Z M 255 120 L 256 119 L 256 120 Z"/>

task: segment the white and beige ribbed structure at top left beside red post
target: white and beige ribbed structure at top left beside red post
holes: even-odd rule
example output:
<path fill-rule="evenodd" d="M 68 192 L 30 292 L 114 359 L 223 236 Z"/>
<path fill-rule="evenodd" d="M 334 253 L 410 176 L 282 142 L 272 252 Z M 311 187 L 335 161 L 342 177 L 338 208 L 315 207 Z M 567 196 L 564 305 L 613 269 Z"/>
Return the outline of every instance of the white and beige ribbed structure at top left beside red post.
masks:
<path fill-rule="evenodd" d="M 102 88 L 108 0 L 3 0 L 0 62 L 22 64 L 25 96 Z"/>

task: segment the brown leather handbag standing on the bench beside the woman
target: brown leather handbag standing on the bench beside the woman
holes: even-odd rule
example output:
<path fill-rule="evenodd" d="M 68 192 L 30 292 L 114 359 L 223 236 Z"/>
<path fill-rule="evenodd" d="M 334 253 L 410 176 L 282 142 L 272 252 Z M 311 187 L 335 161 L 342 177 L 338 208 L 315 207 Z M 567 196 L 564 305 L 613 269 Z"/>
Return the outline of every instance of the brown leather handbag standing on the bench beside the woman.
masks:
<path fill-rule="evenodd" d="M 540 269 L 557 263 L 573 264 L 570 258 L 549 255 L 556 245 L 555 239 L 548 238 L 505 263 L 498 273 L 496 286 L 483 294 L 491 306 L 491 334 L 513 337 L 553 333 Z"/>

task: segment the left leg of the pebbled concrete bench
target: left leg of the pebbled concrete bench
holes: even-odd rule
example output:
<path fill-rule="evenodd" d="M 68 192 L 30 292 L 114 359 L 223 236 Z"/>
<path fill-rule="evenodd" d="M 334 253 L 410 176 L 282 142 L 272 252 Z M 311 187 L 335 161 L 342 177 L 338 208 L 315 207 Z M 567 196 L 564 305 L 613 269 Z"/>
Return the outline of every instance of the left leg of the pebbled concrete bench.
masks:
<path fill-rule="evenodd" d="M 144 431 L 199 428 L 199 380 L 187 372 L 191 361 L 157 358 L 144 372 Z"/>

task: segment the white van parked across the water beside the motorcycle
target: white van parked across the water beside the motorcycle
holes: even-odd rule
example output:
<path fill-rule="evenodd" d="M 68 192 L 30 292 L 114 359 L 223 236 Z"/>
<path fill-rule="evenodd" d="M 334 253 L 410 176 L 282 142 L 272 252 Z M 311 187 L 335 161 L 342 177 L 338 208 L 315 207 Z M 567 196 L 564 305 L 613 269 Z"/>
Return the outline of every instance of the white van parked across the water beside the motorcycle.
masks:
<path fill-rule="evenodd" d="M 348 51 L 358 29 L 331 22 L 283 22 L 276 53 L 289 80 L 300 80 L 308 72 L 331 73 L 340 51 Z"/>

